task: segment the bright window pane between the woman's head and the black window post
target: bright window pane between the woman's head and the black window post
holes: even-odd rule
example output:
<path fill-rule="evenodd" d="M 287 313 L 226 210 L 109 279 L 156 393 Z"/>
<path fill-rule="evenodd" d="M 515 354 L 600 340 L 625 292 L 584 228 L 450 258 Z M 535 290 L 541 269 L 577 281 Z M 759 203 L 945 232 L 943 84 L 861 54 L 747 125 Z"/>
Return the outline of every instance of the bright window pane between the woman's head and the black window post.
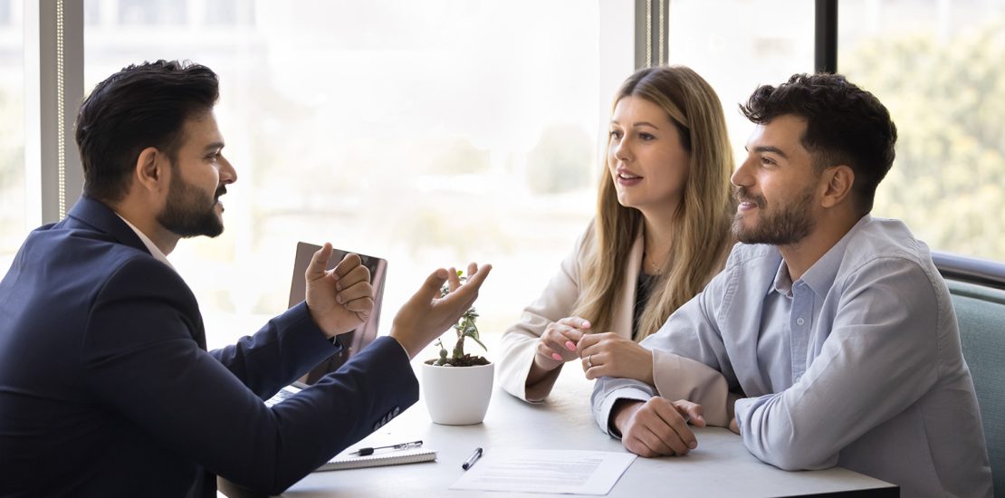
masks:
<path fill-rule="evenodd" d="M 805 0 L 672 0 L 671 64 L 701 74 L 719 94 L 737 160 L 754 127 L 740 114 L 761 85 L 813 71 L 813 4 Z M 724 13 L 729 12 L 729 15 Z"/>

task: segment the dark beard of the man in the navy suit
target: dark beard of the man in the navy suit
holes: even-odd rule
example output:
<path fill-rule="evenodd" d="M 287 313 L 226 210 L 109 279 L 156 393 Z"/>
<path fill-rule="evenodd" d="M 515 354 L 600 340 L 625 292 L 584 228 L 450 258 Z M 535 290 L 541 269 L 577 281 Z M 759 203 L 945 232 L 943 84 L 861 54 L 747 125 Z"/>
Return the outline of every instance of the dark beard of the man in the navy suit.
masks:
<path fill-rule="evenodd" d="M 157 215 L 162 226 L 183 238 L 198 235 L 214 237 L 223 233 L 223 220 L 216 214 L 216 201 L 227 193 L 224 186 L 209 196 L 181 178 L 175 169 L 168 186 L 168 200 L 164 210 Z"/>

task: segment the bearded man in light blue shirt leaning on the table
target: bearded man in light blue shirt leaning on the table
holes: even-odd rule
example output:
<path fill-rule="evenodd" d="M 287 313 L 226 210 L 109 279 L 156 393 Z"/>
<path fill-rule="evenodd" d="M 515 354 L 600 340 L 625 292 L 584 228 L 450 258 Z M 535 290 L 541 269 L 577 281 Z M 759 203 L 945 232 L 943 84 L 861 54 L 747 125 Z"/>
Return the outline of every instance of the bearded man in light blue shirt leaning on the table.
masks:
<path fill-rule="evenodd" d="M 596 372 L 601 429 L 653 457 L 696 447 L 688 420 L 728 426 L 782 469 L 991 496 L 949 291 L 903 223 L 869 215 L 893 161 L 888 112 L 834 74 L 761 87 L 743 111 L 757 128 L 733 175 L 742 243 L 642 342 L 654 385 Z M 603 368 L 582 353 L 588 375 Z"/>

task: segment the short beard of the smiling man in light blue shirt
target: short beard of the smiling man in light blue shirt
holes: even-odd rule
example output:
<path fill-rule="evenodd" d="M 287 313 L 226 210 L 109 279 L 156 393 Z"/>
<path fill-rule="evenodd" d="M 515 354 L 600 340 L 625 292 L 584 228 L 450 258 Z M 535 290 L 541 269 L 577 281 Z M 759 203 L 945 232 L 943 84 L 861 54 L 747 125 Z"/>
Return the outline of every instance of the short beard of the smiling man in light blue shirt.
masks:
<path fill-rule="evenodd" d="M 773 245 L 789 245 L 802 240 L 813 231 L 813 186 L 800 192 L 794 202 L 779 206 L 776 210 L 767 209 L 767 199 L 761 195 L 750 195 L 744 187 L 737 187 L 734 196 L 741 202 L 754 202 L 758 207 L 758 215 L 754 226 L 745 227 L 743 214 L 737 213 L 733 218 L 733 232 L 737 239 L 744 243 L 770 243 Z"/>

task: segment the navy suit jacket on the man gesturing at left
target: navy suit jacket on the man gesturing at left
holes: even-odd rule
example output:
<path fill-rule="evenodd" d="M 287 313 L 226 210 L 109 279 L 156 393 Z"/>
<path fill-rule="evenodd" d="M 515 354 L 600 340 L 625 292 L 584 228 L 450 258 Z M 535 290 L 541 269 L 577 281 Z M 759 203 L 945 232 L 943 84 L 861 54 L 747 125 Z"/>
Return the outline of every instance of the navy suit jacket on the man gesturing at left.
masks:
<path fill-rule="evenodd" d="M 214 474 L 279 493 L 418 399 L 381 337 L 264 405 L 339 347 L 301 303 L 207 352 L 182 278 L 83 197 L 0 282 L 0 496 L 215 496 Z"/>

